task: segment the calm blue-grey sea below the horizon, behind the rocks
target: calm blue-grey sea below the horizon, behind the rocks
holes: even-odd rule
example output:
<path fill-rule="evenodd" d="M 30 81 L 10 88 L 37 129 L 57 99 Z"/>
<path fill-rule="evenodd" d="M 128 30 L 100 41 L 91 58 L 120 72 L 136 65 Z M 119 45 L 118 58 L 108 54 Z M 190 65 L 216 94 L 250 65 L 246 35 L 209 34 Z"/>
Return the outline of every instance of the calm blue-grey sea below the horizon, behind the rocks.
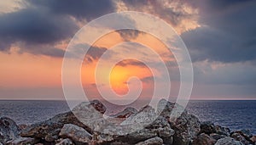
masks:
<path fill-rule="evenodd" d="M 124 107 L 108 106 L 108 114 Z M 140 105 L 142 106 L 142 104 Z M 137 105 L 133 107 L 138 108 Z M 189 101 L 189 113 L 231 130 L 250 129 L 256 134 L 256 101 Z M 0 116 L 8 116 L 17 124 L 32 124 L 68 111 L 65 101 L 0 101 Z"/>

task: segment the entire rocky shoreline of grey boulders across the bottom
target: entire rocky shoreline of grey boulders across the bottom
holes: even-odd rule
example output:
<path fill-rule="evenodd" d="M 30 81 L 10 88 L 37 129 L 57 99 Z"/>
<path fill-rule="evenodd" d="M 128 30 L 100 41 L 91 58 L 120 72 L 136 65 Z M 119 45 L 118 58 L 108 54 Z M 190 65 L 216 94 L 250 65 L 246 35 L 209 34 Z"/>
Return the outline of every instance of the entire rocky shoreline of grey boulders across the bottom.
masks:
<path fill-rule="evenodd" d="M 163 99 L 157 109 L 127 108 L 105 119 L 106 107 L 94 100 L 32 125 L 17 125 L 1 117 L 0 145 L 256 145 L 256 136 L 248 130 L 231 132 L 224 126 L 201 122 L 186 110 L 177 117 L 171 115 L 178 113 L 178 108 L 182 107 Z"/>

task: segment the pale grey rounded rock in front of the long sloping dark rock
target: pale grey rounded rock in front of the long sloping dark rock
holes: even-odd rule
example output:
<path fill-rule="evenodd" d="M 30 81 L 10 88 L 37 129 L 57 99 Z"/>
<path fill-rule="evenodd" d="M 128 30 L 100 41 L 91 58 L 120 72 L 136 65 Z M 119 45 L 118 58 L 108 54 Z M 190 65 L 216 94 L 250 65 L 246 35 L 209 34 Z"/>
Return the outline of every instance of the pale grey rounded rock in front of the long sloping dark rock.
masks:
<path fill-rule="evenodd" d="M 66 124 L 61 129 L 60 137 L 70 138 L 73 142 L 88 143 L 91 142 L 92 136 L 84 128 L 77 125 Z"/>

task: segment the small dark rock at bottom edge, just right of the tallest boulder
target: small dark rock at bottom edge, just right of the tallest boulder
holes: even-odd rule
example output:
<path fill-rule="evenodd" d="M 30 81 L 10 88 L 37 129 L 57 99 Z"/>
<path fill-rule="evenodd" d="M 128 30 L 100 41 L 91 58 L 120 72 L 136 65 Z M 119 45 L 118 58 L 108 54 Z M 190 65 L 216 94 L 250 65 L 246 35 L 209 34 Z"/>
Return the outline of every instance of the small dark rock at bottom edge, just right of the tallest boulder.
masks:
<path fill-rule="evenodd" d="M 215 139 L 209 137 L 205 133 L 201 133 L 198 137 L 195 137 L 192 145 L 213 145 L 216 142 Z"/>

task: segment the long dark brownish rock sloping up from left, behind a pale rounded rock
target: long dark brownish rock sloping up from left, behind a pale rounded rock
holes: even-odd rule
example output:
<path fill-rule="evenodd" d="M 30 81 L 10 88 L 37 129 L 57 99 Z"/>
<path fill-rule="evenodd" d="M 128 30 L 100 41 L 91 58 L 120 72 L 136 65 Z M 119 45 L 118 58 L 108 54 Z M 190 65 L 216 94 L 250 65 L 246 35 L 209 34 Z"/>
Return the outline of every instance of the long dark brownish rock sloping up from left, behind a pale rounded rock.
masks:
<path fill-rule="evenodd" d="M 63 114 L 57 114 L 55 117 L 45 120 L 33 125 L 28 125 L 25 129 L 23 129 L 20 133 L 21 137 L 35 137 L 35 138 L 43 138 L 51 141 L 58 136 L 61 128 L 65 124 L 73 124 L 84 127 L 88 130 L 87 126 L 82 124 L 72 112 L 67 112 Z"/>

